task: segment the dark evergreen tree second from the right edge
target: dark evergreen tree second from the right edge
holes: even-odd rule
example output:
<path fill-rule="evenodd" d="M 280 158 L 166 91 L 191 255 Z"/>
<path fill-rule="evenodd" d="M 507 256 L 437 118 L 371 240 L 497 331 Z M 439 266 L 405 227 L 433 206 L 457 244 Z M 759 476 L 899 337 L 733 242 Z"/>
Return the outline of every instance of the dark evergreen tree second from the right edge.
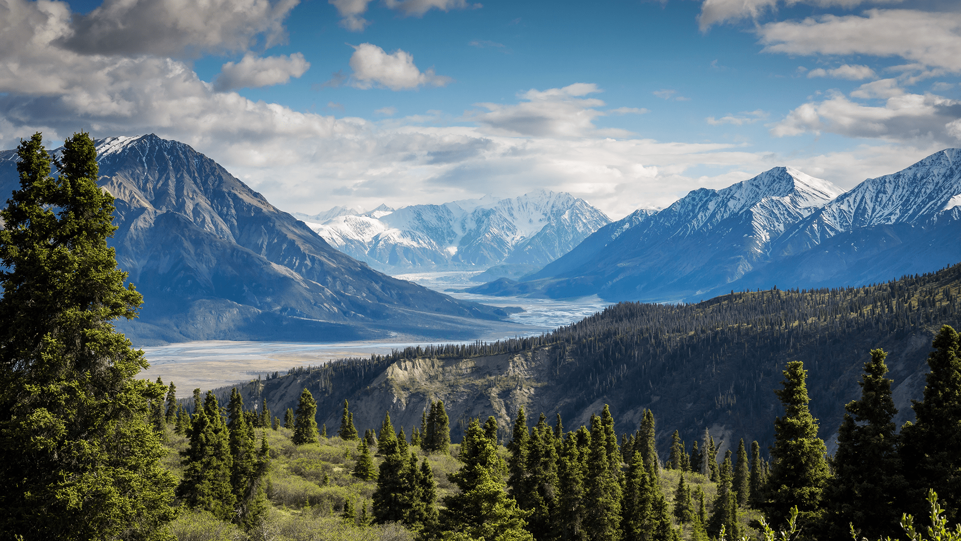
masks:
<path fill-rule="evenodd" d="M 825 489 L 825 527 L 830 537 L 840 537 L 853 525 L 859 536 L 883 537 L 899 528 L 897 498 L 907 489 L 898 435 L 891 421 L 898 413 L 886 379 L 887 356 L 871 351 L 861 376 L 861 399 L 845 405 L 847 413 L 838 429 L 838 449 L 831 464 L 834 477 Z"/>

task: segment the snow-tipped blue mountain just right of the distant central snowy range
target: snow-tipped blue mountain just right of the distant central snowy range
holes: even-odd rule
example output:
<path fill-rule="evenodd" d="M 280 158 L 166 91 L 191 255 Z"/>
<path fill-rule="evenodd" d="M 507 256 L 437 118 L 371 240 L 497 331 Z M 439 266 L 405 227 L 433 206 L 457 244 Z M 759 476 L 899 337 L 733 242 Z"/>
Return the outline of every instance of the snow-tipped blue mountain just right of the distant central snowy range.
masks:
<path fill-rule="evenodd" d="M 764 265 L 785 230 L 840 193 L 825 180 L 775 167 L 723 190 L 688 193 L 655 214 L 634 213 L 525 280 L 552 297 L 700 296 Z"/>

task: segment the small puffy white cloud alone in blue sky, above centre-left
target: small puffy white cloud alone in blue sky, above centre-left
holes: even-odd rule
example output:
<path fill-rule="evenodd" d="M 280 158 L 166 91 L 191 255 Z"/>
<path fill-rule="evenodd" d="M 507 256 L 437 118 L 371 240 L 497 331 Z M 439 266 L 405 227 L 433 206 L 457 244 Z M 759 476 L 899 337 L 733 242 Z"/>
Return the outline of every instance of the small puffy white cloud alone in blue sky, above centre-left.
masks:
<path fill-rule="evenodd" d="M 387 54 L 381 47 L 372 43 L 351 45 L 354 54 L 351 55 L 351 68 L 354 73 L 350 77 L 350 84 L 357 89 L 371 89 L 385 87 L 390 90 L 410 90 L 418 87 L 444 87 L 454 81 L 450 77 L 437 75 L 433 68 L 421 72 L 414 64 L 414 57 L 407 51 L 398 49 Z M 339 84 L 334 80 L 331 85 Z"/>

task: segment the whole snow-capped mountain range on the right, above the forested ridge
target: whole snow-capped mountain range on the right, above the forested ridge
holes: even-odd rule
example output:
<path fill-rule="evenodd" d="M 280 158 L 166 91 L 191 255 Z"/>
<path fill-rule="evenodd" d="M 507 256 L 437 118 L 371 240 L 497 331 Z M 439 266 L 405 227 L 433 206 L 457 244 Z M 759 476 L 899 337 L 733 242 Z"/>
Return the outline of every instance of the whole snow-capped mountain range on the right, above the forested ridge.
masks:
<path fill-rule="evenodd" d="M 521 278 L 466 291 L 697 301 L 729 291 L 883 282 L 961 261 L 961 149 L 850 192 L 791 167 L 635 212 Z"/>

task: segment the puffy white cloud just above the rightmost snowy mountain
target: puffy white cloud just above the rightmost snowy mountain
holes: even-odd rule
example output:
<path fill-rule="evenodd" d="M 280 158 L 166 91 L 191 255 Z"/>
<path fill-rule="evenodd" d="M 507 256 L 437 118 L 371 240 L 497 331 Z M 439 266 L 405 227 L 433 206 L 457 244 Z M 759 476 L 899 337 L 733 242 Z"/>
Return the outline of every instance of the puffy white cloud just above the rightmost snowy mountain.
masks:
<path fill-rule="evenodd" d="M 881 98 L 884 105 L 853 101 L 841 92 L 831 92 L 823 101 L 802 104 L 776 122 L 776 137 L 828 132 L 852 138 L 875 138 L 888 142 L 919 141 L 956 144 L 950 126 L 961 117 L 961 101 L 936 94 L 909 93 L 893 79 L 862 85 L 851 97 Z"/>

